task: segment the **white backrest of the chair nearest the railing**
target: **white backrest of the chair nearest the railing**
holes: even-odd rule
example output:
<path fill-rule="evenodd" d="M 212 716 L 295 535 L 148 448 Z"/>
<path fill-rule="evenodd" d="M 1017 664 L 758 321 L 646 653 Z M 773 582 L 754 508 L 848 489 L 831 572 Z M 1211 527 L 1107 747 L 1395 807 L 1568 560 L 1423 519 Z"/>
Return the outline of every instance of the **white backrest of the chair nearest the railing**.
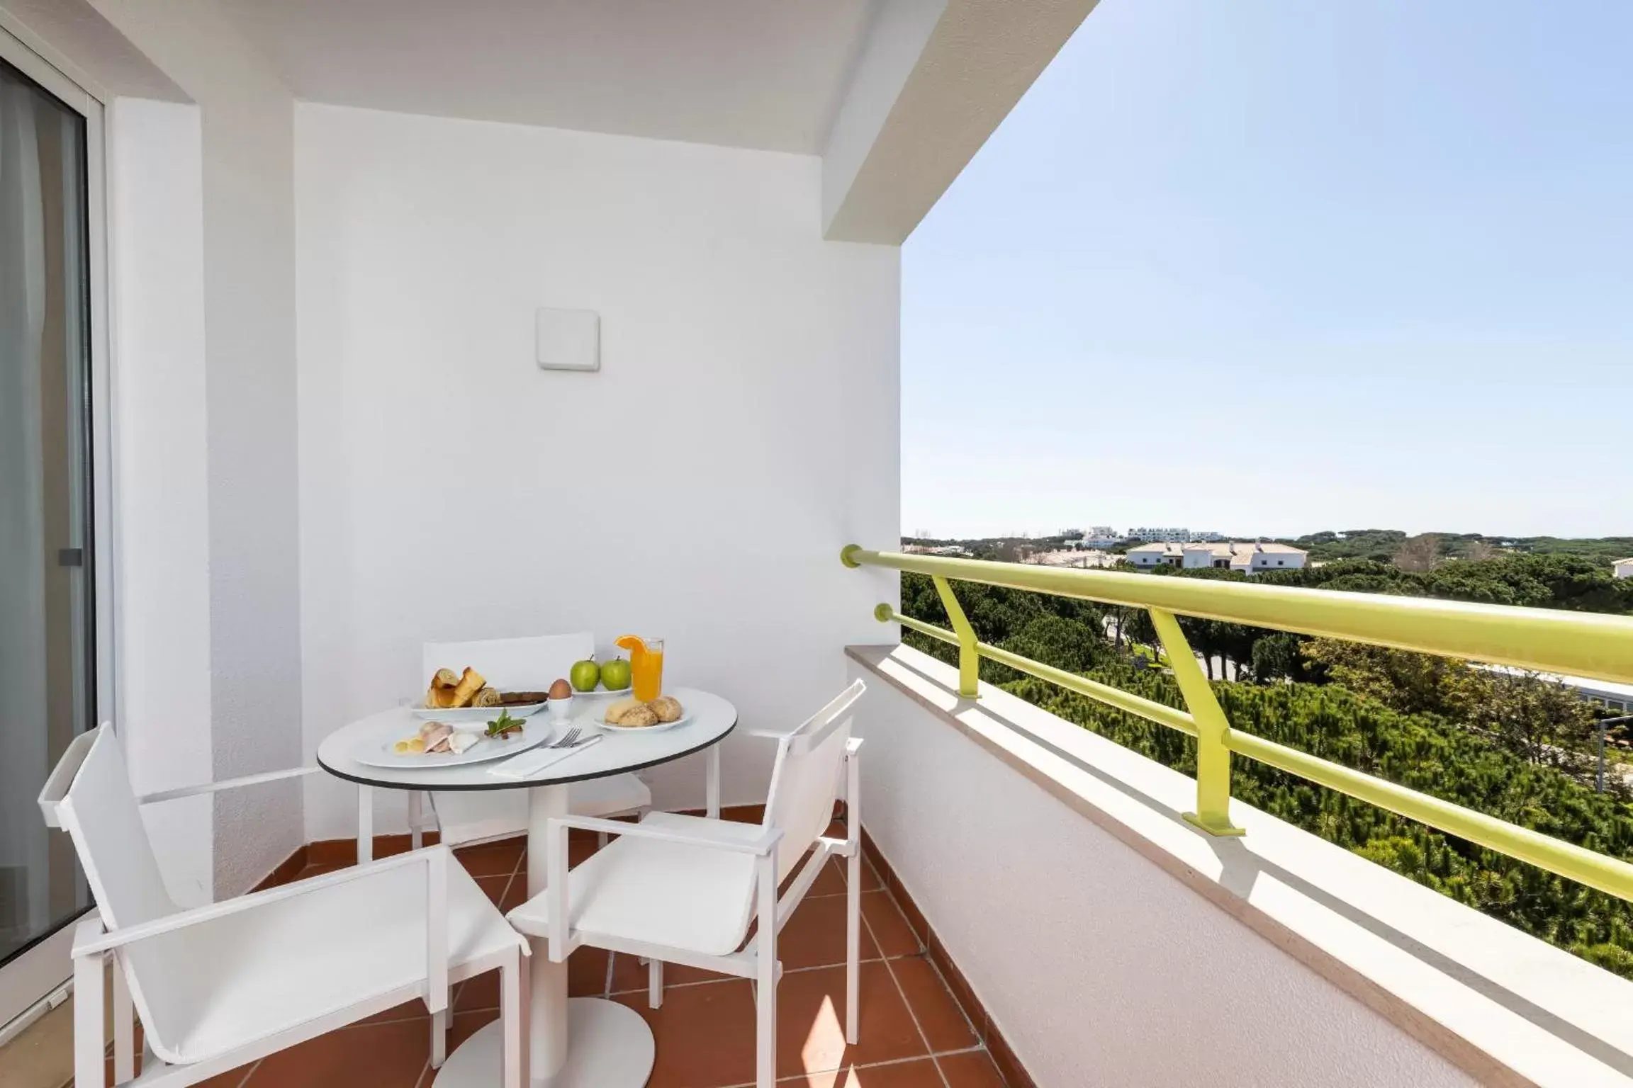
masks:
<path fill-rule="evenodd" d="M 777 742 L 764 827 L 782 832 L 777 843 L 779 881 L 794 871 L 833 822 L 844 745 L 851 739 L 849 711 L 865 690 L 867 685 L 857 680 Z"/>

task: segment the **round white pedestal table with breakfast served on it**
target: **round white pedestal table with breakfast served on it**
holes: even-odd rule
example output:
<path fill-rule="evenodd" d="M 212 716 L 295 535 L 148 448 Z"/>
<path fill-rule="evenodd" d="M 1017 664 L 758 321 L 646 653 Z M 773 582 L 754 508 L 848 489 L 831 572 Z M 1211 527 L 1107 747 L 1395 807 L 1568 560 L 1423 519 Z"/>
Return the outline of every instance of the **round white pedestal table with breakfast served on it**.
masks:
<path fill-rule="evenodd" d="M 707 809 L 719 816 L 720 762 L 715 747 L 736 728 L 736 708 L 719 695 L 696 688 L 670 692 L 691 714 L 691 721 L 655 732 L 612 732 L 568 759 L 552 763 L 526 780 L 498 778 L 492 763 L 464 767 L 395 768 L 369 767 L 351 759 L 358 744 L 371 737 L 412 736 L 418 726 L 407 706 L 382 711 L 336 729 L 317 749 L 317 762 L 336 778 L 364 789 L 359 801 L 359 861 L 371 835 L 364 812 L 371 807 L 369 788 L 385 789 L 526 789 L 527 791 L 527 897 L 544 891 L 545 832 L 552 817 L 567 816 L 568 783 L 622 775 L 656 767 L 694 752 L 709 752 Z M 576 697 L 567 726 L 591 724 L 606 706 L 606 697 Z M 550 962 L 549 941 L 531 938 L 529 1065 L 534 1088 L 640 1088 L 652 1075 L 655 1044 L 640 1013 L 603 998 L 567 997 L 567 964 Z M 500 1083 L 500 1024 L 492 1023 L 465 1039 L 438 1070 L 436 1088 L 493 1088 Z"/>

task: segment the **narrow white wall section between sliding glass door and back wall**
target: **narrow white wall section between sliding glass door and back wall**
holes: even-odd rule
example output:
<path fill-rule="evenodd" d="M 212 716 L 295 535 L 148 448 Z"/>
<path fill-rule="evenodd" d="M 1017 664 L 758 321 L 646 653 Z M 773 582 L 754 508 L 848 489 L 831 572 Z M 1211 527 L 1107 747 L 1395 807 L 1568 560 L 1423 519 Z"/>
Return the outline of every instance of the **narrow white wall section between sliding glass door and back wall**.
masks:
<path fill-rule="evenodd" d="M 181 785 L 181 768 L 202 781 L 291 767 L 300 759 L 294 100 L 209 0 L 93 3 L 95 13 L 75 0 L 49 11 L 28 3 L 20 18 L 122 91 L 129 62 L 100 36 L 100 13 L 193 103 L 191 121 L 131 100 L 113 111 L 119 724 L 139 789 Z M 136 93 L 163 90 L 149 80 Z M 202 829 L 186 804 L 155 812 L 171 829 L 162 855 L 183 900 L 266 876 L 300 843 L 300 804 L 299 786 L 281 783 L 220 794 Z"/>

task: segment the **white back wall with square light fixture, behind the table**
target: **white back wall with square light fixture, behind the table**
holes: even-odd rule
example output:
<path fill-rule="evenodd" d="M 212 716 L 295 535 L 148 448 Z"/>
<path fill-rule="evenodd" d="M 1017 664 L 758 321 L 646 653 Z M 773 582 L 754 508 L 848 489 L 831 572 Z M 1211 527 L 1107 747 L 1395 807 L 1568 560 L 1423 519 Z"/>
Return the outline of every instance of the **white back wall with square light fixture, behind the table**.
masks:
<path fill-rule="evenodd" d="M 898 529 L 898 250 L 823 241 L 820 189 L 807 155 L 297 104 L 309 755 L 420 692 L 425 639 L 665 636 L 745 726 L 839 690 L 895 599 L 838 551 Z M 601 315 L 599 374 L 536 367 L 536 307 Z M 768 757 L 728 742 L 727 803 Z M 353 796 L 309 780 L 307 837 Z"/>

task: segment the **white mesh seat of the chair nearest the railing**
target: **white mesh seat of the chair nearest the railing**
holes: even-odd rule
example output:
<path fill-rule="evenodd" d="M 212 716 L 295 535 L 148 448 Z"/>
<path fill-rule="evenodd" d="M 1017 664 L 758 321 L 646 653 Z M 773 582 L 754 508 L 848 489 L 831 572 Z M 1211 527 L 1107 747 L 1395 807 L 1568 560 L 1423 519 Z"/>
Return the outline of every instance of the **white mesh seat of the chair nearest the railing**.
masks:
<path fill-rule="evenodd" d="M 642 827 L 759 838 L 756 824 L 650 812 Z M 736 951 L 754 905 L 754 856 L 692 843 L 621 835 L 573 868 L 568 925 L 588 944 L 607 941 L 661 944 L 701 956 Z M 509 915 L 523 933 L 549 931 L 549 897 L 539 896 Z"/>

